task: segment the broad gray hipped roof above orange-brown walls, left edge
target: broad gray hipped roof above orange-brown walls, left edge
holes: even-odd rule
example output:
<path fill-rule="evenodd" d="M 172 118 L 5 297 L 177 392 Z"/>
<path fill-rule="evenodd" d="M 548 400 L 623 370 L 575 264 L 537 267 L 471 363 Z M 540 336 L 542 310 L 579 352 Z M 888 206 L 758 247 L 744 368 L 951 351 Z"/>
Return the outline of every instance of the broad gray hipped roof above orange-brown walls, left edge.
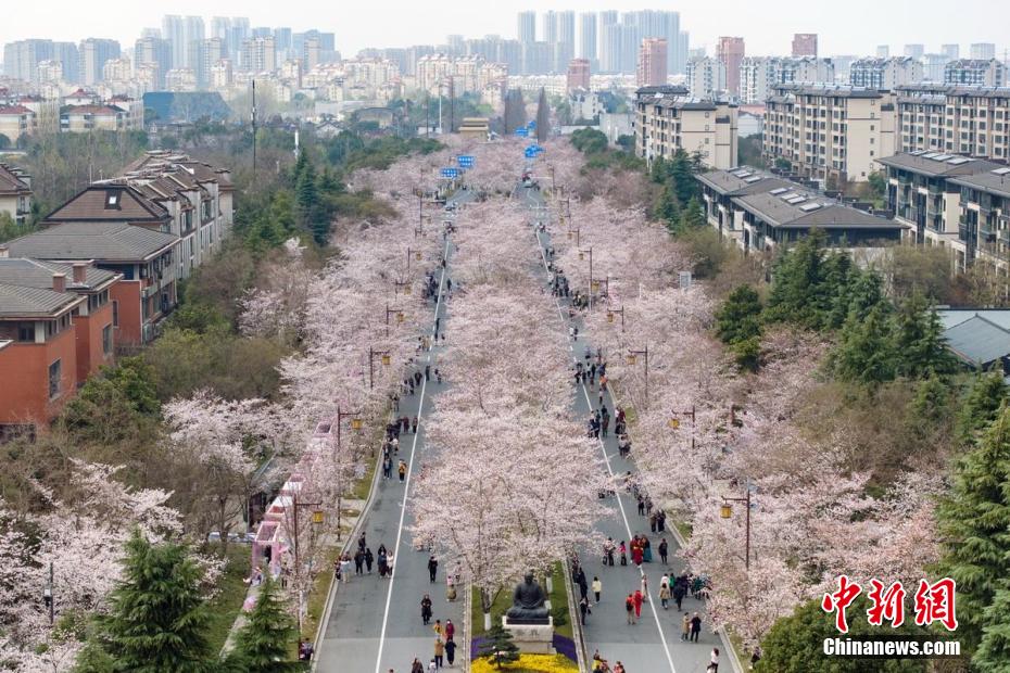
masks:
<path fill-rule="evenodd" d="M 126 223 L 67 223 L 14 239 L 8 246 L 14 257 L 142 262 L 178 240 Z"/>

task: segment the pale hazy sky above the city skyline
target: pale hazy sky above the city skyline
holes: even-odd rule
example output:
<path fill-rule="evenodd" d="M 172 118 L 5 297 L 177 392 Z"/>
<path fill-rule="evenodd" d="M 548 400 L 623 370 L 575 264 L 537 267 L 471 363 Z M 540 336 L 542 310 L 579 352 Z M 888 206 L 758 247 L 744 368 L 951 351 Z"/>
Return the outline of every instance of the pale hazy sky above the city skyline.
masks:
<path fill-rule="evenodd" d="M 793 33 L 820 34 L 820 51 L 870 54 L 878 45 L 892 52 L 906 42 L 922 42 L 926 51 L 958 42 L 967 55 L 970 42 L 995 42 L 1002 55 L 1010 48 L 1008 0 L 541 0 L 540 2 L 417 2 L 406 0 L 103 0 L 79 2 L 14 2 L 0 22 L 0 42 L 29 38 L 78 41 L 111 37 L 132 45 L 141 28 L 161 26 L 162 13 L 249 16 L 253 26 L 289 26 L 295 31 L 319 28 L 337 34 L 337 48 L 353 55 L 363 47 L 440 43 L 449 34 L 516 37 L 516 12 L 535 9 L 598 11 L 614 9 L 678 10 L 691 33 L 691 46 L 712 50 L 720 35 L 738 35 L 748 53 L 787 53 Z M 540 29 L 538 22 L 538 30 Z"/>

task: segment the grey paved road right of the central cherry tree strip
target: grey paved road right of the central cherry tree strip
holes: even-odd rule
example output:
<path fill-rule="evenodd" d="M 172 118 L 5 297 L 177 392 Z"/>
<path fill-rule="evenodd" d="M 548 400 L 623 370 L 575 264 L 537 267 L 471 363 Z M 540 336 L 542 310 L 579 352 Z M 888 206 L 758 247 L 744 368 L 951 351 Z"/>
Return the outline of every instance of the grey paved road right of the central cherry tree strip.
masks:
<path fill-rule="evenodd" d="M 542 208 L 544 203 L 541 193 L 536 190 L 520 190 L 518 196 L 534 211 Z M 546 214 L 543 211 L 538 211 L 535 217 L 545 218 Z M 542 247 L 550 245 L 548 234 L 539 234 L 539 240 Z M 544 282 L 546 280 L 546 269 L 544 269 Z M 593 346 L 588 339 L 590 335 L 582 331 L 581 325 L 578 325 L 578 327 L 580 328 L 579 338 L 571 343 L 572 361 L 577 359 L 585 361 L 585 347 L 590 346 L 592 348 Z M 591 411 L 597 408 L 598 392 L 595 386 L 577 386 L 575 412 L 578 418 L 589 419 Z M 604 397 L 604 404 L 610 409 L 610 417 L 614 418 L 616 416 L 614 402 L 608 394 Z M 601 437 L 599 449 L 605 466 L 611 475 L 624 474 L 629 471 L 634 473 L 636 471 L 633 461 L 620 457 L 617 449 L 617 440 L 613 432 L 608 437 Z M 673 478 L 674 475 L 671 473 L 671 479 Z M 584 630 L 589 656 L 592 657 L 593 652 L 598 650 L 601 656 L 611 664 L 615 661 L 623 663 L 628 673 L 653 673 L 658 671 L 670 671 L 670 673 L 704 672 L 709 662 L 711 648 L 718 647 L 720 652 L 723 650 L 719 636 L 714 634 L 710 628 L 703 627 L 698 643 L 684 643 L 680 639 L 681 620 L 684 612 L 693 614 L 697 611 L 705 619 L 703 602 L 690 597 L 685 598 L 681 612 L 677 611 L 677 606 L 672 601 L 668 610 L 664 610 L 659 605 L 659 579 L 662 573 L 667 571 L 680 573 L 684 570 L 684 563 L 674 558 L 678 549 L 677 541 L 669 534 L 669 531 L 667 531 L 666 535 L 649 532 L 648 519 L 639 516 L 636 500 L 631 494 L 619 492 L 616 497 L 608 498 L 608 504 L 613 507 L 614 515 L 597 522 L 596 530 L 603 535 L 613 537 L 617 544 L 620 544 L 621 541 L 630 541 L 634 534 L 647 534 L 652 543 L 654 558 L 652 563 L 643 563 L 643 571 L 639 571 L 631 563 L 630 557 L 627 567 L 621 567 L 618 559 L 617 564 L 609 568 L 602 562 L 602 549 L 582 550 L 580 558 L 586 573 L 586 580 L 592 584 L 595 576 L 599 577 L 603 583 L 602 600 L 598 605 L 593 606 L 593 613 L 586 619 Z M 664 536 L 670 546 L 669 560 L 671 563 L 669 566 L 661 566 L 659 562 L 658 546 L 660 538 Z M 649 601 L 642 607 L 642 617 L 639 623 L 629 625 L 624 610 L 624 598 L 640 587 L 643 572 L 648 582 Z M 720 659 L 723 670 L 732 670 L 728 663 L 728 657 L 723 656 Z"/>

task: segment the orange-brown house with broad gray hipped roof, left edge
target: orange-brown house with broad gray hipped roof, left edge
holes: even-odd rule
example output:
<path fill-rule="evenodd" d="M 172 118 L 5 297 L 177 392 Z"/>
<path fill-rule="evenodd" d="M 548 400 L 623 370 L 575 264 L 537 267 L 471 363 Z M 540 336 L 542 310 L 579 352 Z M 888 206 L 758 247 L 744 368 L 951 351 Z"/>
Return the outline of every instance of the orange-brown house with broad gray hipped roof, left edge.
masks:
<path fill-rule="evenodd" d="M 110 289 L 114 342 L 136 346 L 154 339 L 177 299 L 174 252 L 178 237 L 126 221 L 73 221 L 48 227 L 8 243 L 10 255 L 45 262 L 91 262 L 122 276 Z M 73 307 L 71 307 L 73 308 Z M 65 328 L 70 327 L 70 316 Z M 76 351 L 73 343 L 66 352 Z M 71 372 L 76 369 L 72 356 Z M 68 376 L 73 376 L 72 373 Z"/>

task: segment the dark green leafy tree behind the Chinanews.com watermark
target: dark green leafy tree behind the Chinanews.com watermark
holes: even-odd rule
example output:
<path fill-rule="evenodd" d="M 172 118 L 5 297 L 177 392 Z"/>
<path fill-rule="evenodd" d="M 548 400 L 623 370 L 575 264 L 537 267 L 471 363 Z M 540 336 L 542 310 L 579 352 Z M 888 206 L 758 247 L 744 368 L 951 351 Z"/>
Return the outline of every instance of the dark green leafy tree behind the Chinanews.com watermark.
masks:
<path fill-rule="evenodd" d="M 846 610 L 849 632 L 842 636 L 835 615 L 821 609 L 819 600 L 806 602 L 783 617 L 761 640 L 761 660 L 755 673 L 918 673 L 926 670 L 922 659 L 848 659 L 824 655 L 825 639 L 872 635 L 922 636 L 924 628 L 906 619 L 898 628 L 872 626 L 867 622 L 868 600 L 860 596 Z"/>

